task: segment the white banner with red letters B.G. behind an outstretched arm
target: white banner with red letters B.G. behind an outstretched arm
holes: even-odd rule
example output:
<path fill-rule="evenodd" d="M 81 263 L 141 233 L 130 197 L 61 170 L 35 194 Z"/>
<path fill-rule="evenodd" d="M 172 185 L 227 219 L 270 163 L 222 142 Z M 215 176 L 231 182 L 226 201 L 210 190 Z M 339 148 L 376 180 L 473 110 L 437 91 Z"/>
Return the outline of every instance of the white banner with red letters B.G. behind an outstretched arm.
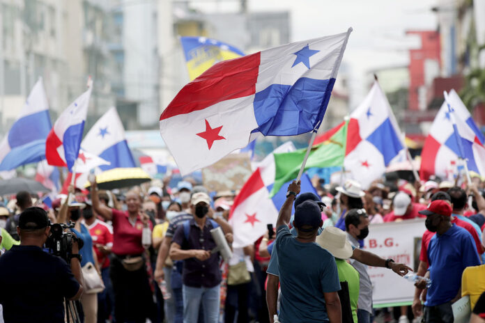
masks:
<path fill-rule="evenodd" d="M 394 259 L 395 262 L 408 265 L 416 271 L 425 230 L 424 219 L 373 224 L 369 226 L 364 250 L 376 253 L 384 259 Z M 374 307 L 413 302 L 413 283 L 387 268 L 368 267 L 367 270 L 372 281 Z"/>

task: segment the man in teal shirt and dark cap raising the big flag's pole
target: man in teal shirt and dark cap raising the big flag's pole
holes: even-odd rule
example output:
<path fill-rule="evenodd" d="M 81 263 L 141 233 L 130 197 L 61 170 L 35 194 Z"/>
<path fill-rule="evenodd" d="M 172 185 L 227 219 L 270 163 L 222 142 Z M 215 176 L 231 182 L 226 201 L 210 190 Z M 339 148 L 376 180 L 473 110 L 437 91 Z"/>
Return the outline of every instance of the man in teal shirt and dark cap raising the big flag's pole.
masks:
<path fill-rule="evenodd" d="M 301 203 L 293 221 L 298 236 L 293 237 L 288 228 L 293 200 L 299 193 L 300 182 L 293 181 L 276 223 L 275 246 L 282 288 L 279 322 L 341 322 L 337 265 L 332 255 L 315 243 L 323 224 L 320 207 L 311 200 Z M 272 317 L 270 320 L 274 322 Z"/>

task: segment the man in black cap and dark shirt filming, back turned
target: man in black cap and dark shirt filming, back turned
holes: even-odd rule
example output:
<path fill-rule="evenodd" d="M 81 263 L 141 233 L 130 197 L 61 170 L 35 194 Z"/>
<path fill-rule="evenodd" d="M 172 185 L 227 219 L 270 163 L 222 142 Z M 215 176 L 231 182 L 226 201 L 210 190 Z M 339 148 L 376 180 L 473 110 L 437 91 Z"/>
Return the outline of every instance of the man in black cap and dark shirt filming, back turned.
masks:
<path fill-rule="evenodd" d="M 77 300 L 83 292 L 77 239 L 72 241 L 70 266 L 43 251 L 50 226 L 40 207 L 20 214 L 17 233 L 20 246 L 0 257 L 0 304 L 9 322 L 64 322 L 63 300 Z"/>

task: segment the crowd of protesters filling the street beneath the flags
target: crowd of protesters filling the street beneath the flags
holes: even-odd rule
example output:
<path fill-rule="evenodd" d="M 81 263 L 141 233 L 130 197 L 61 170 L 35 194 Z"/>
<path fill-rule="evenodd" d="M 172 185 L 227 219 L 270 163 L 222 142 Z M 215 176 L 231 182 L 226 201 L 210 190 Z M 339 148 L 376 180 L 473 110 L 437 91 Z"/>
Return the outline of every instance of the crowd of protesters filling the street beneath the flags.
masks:
<path fill-rule="evenodd" d="M 353 180 L 316 180 L 318 196 L 293 182 L 275 230 L 233 249 L 229 260 L 215 251 L 210 231 L 220 228 L 231 245 L 229 212 L 237 192 L 209 192 L 190 178 L 174 187 L 169 182 L 122 193 L 93 181 L 88 190 L 70 187 L 52 206 L 26 191 L 4 197 L 0 283 L 15 282 L 6 264 L 21 259 L 22 239 L 33 239 L 28 225 L 40 230 L 35 245 L 42 245 L 45 223 L 72 222 L 70 231 L 83 245 L 75 252 L 79 266 L 101 282 L 68 280 L 65 297 L 79 299 L 82 322 L 453 322 L 451 305 L 465 295 L 475 309 L 472 322 L 485 322 L 485 182 L 478 176 L 459 185 L 387 176 L 365 191 Z M 42 219 L 22 224 L 32 212 Z M 411 269 L 364 251 L 369 228 L 415 218 L 426 219 L 417 275 L 431 278 L 431 286 L 416 283 L 413 306 L 376 311 L 367 266 L 399 276 Z M 12 299 L 29 293 L 2 287 L 0 295 L 0 322 L 27 322 L 16 319 L 30 314 L 17 313 Z"/>

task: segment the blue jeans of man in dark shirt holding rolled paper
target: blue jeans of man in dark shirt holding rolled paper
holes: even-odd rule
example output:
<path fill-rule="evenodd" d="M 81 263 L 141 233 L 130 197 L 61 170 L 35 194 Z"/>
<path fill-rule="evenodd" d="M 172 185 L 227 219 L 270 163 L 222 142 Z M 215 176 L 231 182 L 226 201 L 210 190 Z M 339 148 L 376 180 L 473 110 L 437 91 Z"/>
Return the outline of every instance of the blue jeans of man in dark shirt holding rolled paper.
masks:
<path fill-rule="evenodd" d="M 182 293 L 183 323 L 197 323 L 201 304 L 203 308 L 203 322 L 219 322 L 220 285 L 211 288 L 183 285 Z"/>

